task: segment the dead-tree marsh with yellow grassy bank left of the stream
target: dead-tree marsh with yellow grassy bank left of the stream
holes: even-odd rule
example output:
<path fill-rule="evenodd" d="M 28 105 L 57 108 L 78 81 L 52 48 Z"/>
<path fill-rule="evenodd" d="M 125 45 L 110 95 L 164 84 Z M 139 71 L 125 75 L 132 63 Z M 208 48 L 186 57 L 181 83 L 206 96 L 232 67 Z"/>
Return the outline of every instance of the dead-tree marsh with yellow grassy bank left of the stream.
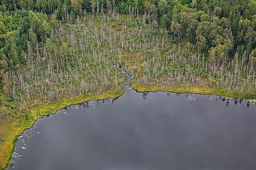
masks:
<path fill-rule="evenodd" d="M 0 168 L 8 164 L 16 137 L 38 118 L 124 93 L 125 75 L 85 25 L 77 21 L 55 26 L 45 42 L 35 45 L 31 38 L 28 53 L 21 55 L 24 64 L 6 71 L 8 64 L 2 61 Z"/>

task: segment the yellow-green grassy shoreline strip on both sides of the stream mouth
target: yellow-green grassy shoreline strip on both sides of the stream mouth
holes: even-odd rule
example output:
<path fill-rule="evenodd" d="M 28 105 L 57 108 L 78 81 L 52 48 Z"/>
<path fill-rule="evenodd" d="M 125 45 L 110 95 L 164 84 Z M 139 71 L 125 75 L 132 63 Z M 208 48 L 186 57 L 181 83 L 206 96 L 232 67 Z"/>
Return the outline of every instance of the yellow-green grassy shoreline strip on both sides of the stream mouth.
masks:
<path fill-rule="evenodd" d="M 217 95 L 225 98 L 231 98 L 231 99 L 244 99 L 248 103 L 256 103 L 256 99 L 246 99 L 242 94 L 235 95 L 233 91 L 220 91 L 217 89 L 212 89 L 212 88 L 198 88 L 198 87 L 182 87 L 182 86 L 162 86 L 162 85 L 156 85 L 156 86 L 147 86 L 147 85 L 141 85 L 137 84 L 136 82 L 131 82 L 132 89 L 136 90 L 138 93 L 144 93 L 144 92 L 156 92 L 156 91 L 168 91 L 170 93 L 191 93 L 191 94 L 201 94 L 201 95 Z M 117 90 L 117 89 L 115 89 Z M 4 170 L 9 166 L 9 162 L 11 159 L 11 155 L 13 150 L 15 149 L 15 143 L 17 142 L 17 137 L 19 137 L 26 129 L 30 129 L 35 122 L 40 119 L 44 118 L 44 116 L 50 115 L 50 114 L 55 114 L 57 111 L 62 110 L 68 106 L 71 105 L 77 105 L 77 104 L 82 104 L 87 101 L 91 100 L 104 100 L 104 99 L 115 99 L 120 96 L 122 96 L 125 93 L 124 87 L 121 88 L 121 90 L 117 91 L 107 91 L 105 93 L 101 93 L 99 95 L 95 94 L 89 94 L 89 95 L 80 95 L 80 96 L 75 96 L 69 99 L 59 99 L 56 101 L 56 103 L 46 103 L 45 105 L 41 106 L 35 106 L 31 110 L 33 112 L 32 116 L 30 116 L 29 121 L 31 121 L 30 125 L 25 126 L 22 125 L 18 129 L 15 128 L 15 123 L 13 122 L 10 125 L 10 128 L 13 128 L 14 132 L 8 134 L 6 137 L 6 142 L 2 145 L 0 148 L 0 170 Z M 16 119 L 18 121 L 19 119 Z M 10 130 L 12 131 L 12 130 Z M 16 132 L 15 132 L 16 131 Z M 5 160 L 5 161 L 3 161 Z"/>

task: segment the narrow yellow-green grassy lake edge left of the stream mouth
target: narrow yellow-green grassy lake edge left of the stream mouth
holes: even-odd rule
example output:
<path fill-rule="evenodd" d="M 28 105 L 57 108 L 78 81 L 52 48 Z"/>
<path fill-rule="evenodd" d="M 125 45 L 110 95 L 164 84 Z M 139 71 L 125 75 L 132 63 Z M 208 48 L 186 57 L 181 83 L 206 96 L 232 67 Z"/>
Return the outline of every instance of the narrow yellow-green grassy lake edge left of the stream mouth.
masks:
<path fill-rule="evenodd" d="M 55 103 L 46 103 L 41 106 L 32 107 L 32 115 L 27 121 L 29 125 L 24 122 L 20 127 L 15 127 L 15 124 L 20 121 L 22 118 L 15 119 L 15 122 L 12 122 L 8 129 L 10 129 L 8 135 L 6 136 L 5 142 L 0 148 L 0 170 L 4 170 L 9 166 L 12 152 L 15 149 L 15 144 L 18 140 L 18 137 L 24 133 L 25 130 L 30 129 L 38 119 L 44 118 L 50 114 L 55 114 L 57 111 L 62 110 L 71 105 L 82 104 L 91 100 L 104 100 L 104 99 L 115 99 L 122 96 L 125 93 L 125 89 L 122 87 L 119 89 L 114 89 L 113 91 L 106 91 L 99 95 L 89 94 L 89 95 L 79 95 L 69 99 L 59 99 Z"/>

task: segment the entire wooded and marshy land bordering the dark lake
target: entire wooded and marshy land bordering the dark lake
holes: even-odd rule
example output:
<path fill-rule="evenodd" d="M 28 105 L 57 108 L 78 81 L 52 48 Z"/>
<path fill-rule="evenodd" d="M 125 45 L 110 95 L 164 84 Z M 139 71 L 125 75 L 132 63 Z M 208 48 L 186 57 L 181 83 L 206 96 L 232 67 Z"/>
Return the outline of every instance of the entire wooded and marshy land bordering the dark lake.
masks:
<path fill-rule="evenodd" d="M 123 94 L 119 65 L 138 91 L 256 99 L 256 1 L 2 0 L 0 169 L 54 106 Z"/>

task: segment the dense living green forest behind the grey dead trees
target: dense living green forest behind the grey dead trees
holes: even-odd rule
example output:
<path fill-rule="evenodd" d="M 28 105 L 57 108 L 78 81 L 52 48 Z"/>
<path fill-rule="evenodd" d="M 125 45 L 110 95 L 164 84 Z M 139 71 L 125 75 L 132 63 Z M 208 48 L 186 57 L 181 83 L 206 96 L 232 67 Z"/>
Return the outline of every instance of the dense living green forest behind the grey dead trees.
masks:
<path fill-rule="evenodd" d="M 204 35 L 208 40 L 201 51 L 207 52 L 211 47 L 216 47 L 212 41 L 216 39 L 214 36 L 219 35 L 232 41 L 234 48 L 230 49 L 229 53 L 234 54 L 237 48 L 244 45 L 246 57 L 249 57 L 252 49 L 256 46 L 255 4 L 255 1 L 250 0 L 210 0 L 207 2 L 202 0 L 21 0 L 13 1 L 12 3 L 10 0 L 5 0 L 0 2 L 0 9 L 3 12 L 1 15 L 5 15 L 5 17 L 0 15 L 0 35 L 12 30 L 18 30 L 18 33 L 22 35 L 27 33 L 26 30 L 29 30 L 30 27 L 36 33 L 40 42 L 50 35 L 50 26 L 43 13 L 55 13 L 59 20 L 69 22 L 71 18 L 75 18 L 76 14 L 82 16 L 85 12 L 106 12 L 115 8 L 117 11 L 125 14 L 147 13 L 148 19 L 151 21 L 156 20 L 161 28 L 169 31 L 169 34 L 173 33 L 178 41 L 188 37 L 191 42 L 199 44 L 199 39 L 196 37 Z M 30 12 L 28 22 L 27 17 L 24 17 L 24 15 L 27 16 L 27 12 L 25 14 L 18 9 L 35 10 L 39 13 Z M 13 14 L 10 11 L 15 12 Z M 18 18 L 22 18 L 21 20 L 25 21 L 16 20 L 17 17 L 13 17 L 17 15 L 16 13 L 19 13 Z M 17 24 L 17 22 L 19 23 Z M 173 26 L 182 28 L 179 33 L 177 33 L 177 30 L 170 29 L 171 23 L 175 23 Z M 201 32 L 201 35 L 196 34 L 198 27 L 200 25 L 204 26 L 204 24 L 206 24 L 206 28 Z M 210 37 L 208 38 L 205 35 L 210 35 Z M 249 46 L 247 47 L 247 45 Z M 23 51 L 25 51 L 26 46 L 22 44 Z M 10 46 L 8 50 L 10 50 Z M 18 52 L 21 54 L 20 51 Z"/>

